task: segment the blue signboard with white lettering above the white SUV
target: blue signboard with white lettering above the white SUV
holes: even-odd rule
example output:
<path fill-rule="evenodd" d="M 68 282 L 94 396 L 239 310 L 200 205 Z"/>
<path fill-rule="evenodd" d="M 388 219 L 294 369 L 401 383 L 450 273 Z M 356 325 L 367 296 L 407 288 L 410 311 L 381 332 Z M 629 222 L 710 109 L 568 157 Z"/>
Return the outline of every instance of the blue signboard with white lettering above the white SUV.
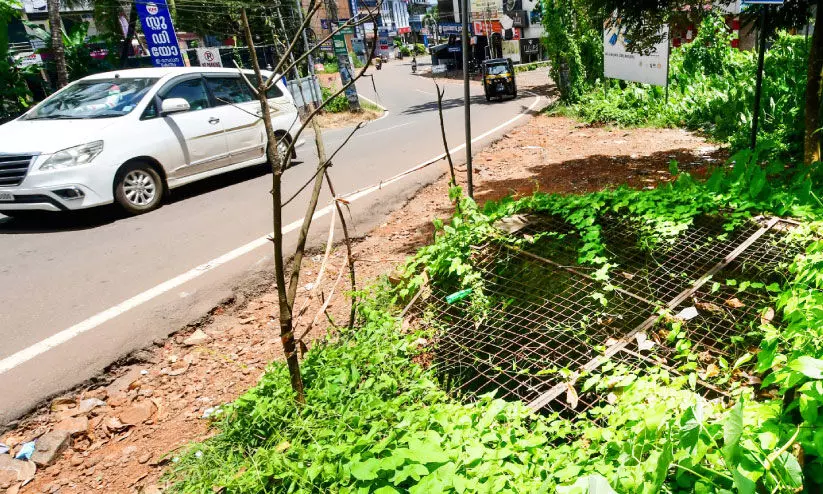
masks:
<path fill-rule="evenodd" d="M 166 1 L 135 3 L 143 34 L 146 36 L 146 44 L 149 45 L 151 63 L 155 67 L 185 66 Z"/>

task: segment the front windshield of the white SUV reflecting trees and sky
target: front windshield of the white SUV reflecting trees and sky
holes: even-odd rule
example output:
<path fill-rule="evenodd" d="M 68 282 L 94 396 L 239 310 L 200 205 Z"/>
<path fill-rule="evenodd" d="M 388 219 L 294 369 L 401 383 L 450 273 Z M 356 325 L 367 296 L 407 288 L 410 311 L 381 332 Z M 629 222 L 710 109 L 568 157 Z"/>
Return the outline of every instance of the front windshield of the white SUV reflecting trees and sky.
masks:
<path fill-rule="evenodd" d="M 48 98 L 26 120 L 109 118 L 125 115 L 140 103 L 157 78 L 80 81 Z"/>

